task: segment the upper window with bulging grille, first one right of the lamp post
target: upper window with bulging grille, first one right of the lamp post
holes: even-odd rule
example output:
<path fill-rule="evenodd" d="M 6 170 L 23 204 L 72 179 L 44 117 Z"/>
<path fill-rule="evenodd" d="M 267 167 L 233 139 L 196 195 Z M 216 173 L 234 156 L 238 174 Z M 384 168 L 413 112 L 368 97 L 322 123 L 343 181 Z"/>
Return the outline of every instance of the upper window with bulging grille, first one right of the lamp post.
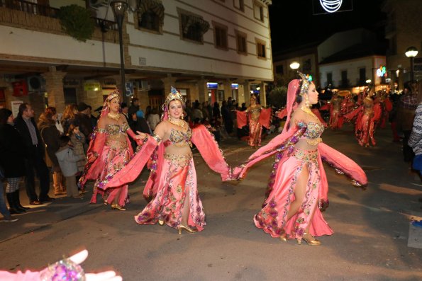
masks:
<path fill-rule="evenodd" d="M 143 1 L 137 15 L 138 28 L 142 30 L 151 30 L 156 33 L 162 33 L 162 25 L 164 24 L 164 6 L 161 1 Z"/>

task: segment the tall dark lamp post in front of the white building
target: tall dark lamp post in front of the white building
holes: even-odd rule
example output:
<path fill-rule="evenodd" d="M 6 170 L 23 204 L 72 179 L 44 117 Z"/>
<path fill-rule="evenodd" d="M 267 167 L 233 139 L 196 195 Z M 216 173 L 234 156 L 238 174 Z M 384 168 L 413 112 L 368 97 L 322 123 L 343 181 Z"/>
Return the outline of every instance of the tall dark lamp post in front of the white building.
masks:
<path fill-rule="evenodd" d="M 128 3 L 122 0 L 113 0 L 110 3 L 111 8 L 113 9 L 114 19 L 117 22 L 118 26 L 118 42 L 120 45 L 120 74 L 121 74 L 121 93 L 123 95 L 123 100 L 126 101 L 126 81 L 125 81 L 125 62 L 123 59 L 123 19 L 126 15 L 126 10 L 128 9 Z"/>

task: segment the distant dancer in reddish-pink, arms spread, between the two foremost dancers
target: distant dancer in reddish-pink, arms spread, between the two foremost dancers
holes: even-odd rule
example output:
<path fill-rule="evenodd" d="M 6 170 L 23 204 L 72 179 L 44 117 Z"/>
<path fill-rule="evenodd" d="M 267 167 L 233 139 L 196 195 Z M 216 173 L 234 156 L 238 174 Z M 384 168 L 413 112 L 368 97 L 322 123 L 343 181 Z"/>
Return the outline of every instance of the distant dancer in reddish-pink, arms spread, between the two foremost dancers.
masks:
<path fill-rule="evenodd" d="M 257 96 L 250 96 L 250 106 L 245 111 L 236 110 L 238 128 L 241 129 L 248 123 L 249 117 L 249 140 L 251 147 L 261 146 L 262 126 L 270 128 L 271 108 L 265 109 L 257 103 Z"/>

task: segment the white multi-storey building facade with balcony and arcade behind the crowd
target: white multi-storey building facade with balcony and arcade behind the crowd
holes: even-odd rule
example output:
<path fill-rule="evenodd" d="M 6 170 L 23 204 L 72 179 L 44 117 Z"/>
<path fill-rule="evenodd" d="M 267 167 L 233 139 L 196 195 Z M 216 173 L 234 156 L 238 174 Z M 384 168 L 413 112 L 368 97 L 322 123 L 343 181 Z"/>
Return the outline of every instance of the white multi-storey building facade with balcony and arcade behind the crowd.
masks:
<path fill-rule="evenodd" d="M 41 1 L 38 1 L 41 2 Z M 78 1 L 96 23 L 75 40 L 57 17 L 64 1 L 0 6 L 0 104 L 29 102 L 59 112 L 84 101 L 93 108 L 121 87 L 118 27 L 108 1 Z M 1 2 L 4 3 L 4 2 Z M 70 1 L 66 1 L 69 4 Z M 23 5 L 24 4 L 24 5 Z M 170 86 L 187 100 L 248 103 L 273 80 L 268 0 L 143 0 L 123 21 L 126 88 L 141 106 L 162 103 Z"/>

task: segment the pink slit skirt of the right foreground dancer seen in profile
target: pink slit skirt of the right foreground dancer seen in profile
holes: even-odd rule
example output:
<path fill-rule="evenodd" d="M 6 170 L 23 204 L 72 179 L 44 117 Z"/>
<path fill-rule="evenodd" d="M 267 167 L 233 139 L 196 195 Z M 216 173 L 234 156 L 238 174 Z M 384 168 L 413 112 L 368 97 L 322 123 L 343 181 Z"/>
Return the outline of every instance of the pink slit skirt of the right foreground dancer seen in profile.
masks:
<path fill-rule="evenodd" d="M 287 221 L 290 204 L 295 200 L 296 180 L 306 166 L 309 171 L 304 200 L 299 211 Z M 308 226 L 313 236 L 331 235 L 328 226 L 318 209 L 318 189 L 321 186 L 321 170 L 318 165 L 318 151 L 296 149 L 290 156 L 284 154 L 276 170 L 274 185 L 268 193 L 262 210 L 254 217 L 255 226 L 272 237 L 286 235 L 288 239 L 299 239 Z"/>

